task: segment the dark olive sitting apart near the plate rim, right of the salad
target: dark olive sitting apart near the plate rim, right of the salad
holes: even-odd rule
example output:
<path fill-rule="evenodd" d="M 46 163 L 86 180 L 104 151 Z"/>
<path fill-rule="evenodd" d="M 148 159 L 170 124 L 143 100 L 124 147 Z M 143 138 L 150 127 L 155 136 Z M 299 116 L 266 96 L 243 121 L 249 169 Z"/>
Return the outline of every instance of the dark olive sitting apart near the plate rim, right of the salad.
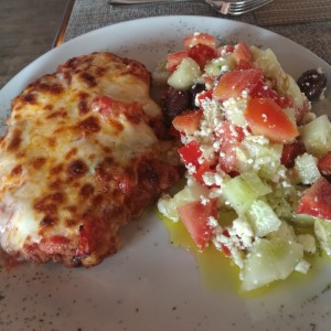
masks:
<path fill-rule="evenodd" d="M 327 86 L 327 76 L 321 71 L 309 70 L 298 79 L 298 85 L 307 98 L 312 102 L 319 98 Z"/>

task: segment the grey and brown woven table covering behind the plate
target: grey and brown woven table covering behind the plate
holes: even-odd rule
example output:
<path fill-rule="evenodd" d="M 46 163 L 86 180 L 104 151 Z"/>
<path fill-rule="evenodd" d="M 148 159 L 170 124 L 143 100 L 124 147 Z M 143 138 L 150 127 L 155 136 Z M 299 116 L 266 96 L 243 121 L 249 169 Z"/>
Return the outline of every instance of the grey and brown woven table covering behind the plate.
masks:
<path fill-rule="evenodd" d="M 312 51 L 331 64 L 331 1 L 275 0 L 254 12 L 224 17 L 205 3 L 168 2 L 114 8 L 109 0 L 70 0 L 57 43 L 110 24 L 159 15 L 203 15 L 226 18 L 261 26 Z"/>

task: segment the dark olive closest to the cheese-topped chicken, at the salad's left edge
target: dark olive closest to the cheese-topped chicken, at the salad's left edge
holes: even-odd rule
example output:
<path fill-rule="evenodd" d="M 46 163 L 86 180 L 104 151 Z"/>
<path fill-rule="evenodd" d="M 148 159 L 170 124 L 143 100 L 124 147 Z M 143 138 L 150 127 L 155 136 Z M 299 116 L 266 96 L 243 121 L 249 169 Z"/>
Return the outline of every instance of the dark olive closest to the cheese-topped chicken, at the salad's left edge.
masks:
<path fill-rule="evenodd" d="M 189 90 L 178 90 L 170 87 L 162 98 L 162 110 L 168 126 L 173 118 L 183 111 L 191 109 L 191 95 Z"/>

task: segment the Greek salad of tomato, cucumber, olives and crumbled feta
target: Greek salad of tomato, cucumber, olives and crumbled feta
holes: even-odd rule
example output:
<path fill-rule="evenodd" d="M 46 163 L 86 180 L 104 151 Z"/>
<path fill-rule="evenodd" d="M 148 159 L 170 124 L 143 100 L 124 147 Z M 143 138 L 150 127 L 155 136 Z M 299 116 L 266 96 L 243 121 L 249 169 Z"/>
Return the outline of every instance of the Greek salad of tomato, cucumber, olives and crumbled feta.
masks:
<path fill-rule="evenodd" d="M 311 111 L 323 72 L 297 83 L 270 49 L 220 45 L 201 32 L 153 77 L 167 81 L 162 107 L 186 178 L 159 212 L 182 222 L 202 252 L 222 250 L 246 291 L 331 255 L 331 124 Z"/>

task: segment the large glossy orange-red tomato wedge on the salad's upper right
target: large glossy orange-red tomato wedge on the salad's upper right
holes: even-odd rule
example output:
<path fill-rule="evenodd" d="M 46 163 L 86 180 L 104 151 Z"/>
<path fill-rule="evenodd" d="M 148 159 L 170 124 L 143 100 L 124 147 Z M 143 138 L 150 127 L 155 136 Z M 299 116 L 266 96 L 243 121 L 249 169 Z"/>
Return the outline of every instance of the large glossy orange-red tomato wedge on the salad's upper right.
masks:
<path fill-rule="evenodd" d="M 291 143 L 299 136 L 297 126 L 270 98 L 252 98 L 244 111 L 252 132 L 273 142 Z"/>

